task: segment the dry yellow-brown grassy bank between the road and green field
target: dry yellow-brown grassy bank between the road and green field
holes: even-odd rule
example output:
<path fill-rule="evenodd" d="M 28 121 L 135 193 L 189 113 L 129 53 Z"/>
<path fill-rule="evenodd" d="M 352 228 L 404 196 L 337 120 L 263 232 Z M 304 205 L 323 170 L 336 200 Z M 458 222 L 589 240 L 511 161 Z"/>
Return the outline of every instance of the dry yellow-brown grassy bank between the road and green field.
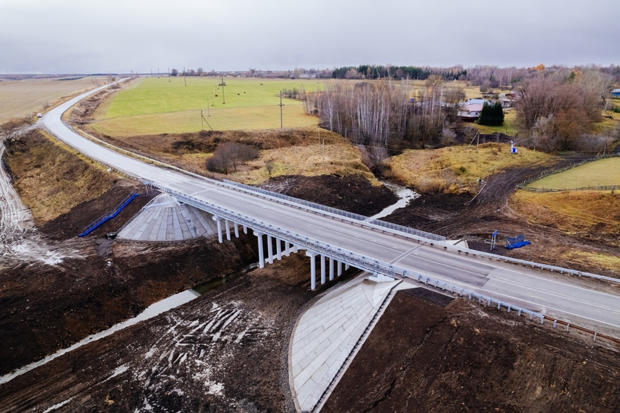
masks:
<path fill-rule="evenodd" d="M 228 178 L 246 184 L 259 184 L 269 178 L 288 175 L 358 175 L 373 185 L 379 184 L 362 163 L 357 147 L 338 134 L 324 129 L 319 133 L 319 130 L 313 127 L 216 131 L 206 134 L 104 136 L 103 140 L 194 173 Z M 227 176 L 207 171 L 206 162 L 214 149 L 229 140 L 260 149 L 260 157 L 246 165 L 238 165 L 237 170 Z M 266 168 L 269 161 L 273 162 L 271 174 Z"/>

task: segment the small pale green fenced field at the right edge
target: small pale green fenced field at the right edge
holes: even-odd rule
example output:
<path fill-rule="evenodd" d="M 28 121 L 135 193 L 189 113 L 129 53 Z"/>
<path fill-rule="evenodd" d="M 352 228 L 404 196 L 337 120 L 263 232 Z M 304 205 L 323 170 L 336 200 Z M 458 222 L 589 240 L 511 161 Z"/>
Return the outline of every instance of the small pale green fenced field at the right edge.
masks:
<path fill-rule="evenodd" d="M 595 185 L 620 185 L 620 158 L 606 158 L 546 176 L 529 187 L 572 189 Z"/>

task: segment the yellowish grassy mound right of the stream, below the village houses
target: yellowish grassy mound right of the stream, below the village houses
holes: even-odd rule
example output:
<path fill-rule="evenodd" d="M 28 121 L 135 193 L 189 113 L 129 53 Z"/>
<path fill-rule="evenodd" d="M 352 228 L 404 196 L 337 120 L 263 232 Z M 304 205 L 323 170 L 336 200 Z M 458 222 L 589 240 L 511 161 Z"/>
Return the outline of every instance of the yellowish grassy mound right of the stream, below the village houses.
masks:
<path fill-rule="evenodd" d="M 508 168 L 539 165 L 552 157 L 546 153 L 521 149 L 510 153 L 510 145 L 487 143 L 405 151 L 388 161 L 394 177 L 422 192 L 448 190 L 471 191 L 477 180 L 486 180 Z"/>

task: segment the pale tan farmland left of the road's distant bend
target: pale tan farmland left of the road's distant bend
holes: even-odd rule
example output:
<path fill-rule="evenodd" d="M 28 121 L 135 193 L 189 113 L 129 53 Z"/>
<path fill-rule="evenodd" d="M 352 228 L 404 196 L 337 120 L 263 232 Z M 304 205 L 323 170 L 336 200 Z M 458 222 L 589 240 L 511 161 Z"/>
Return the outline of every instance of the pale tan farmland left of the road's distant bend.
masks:
<path fill-rule="evenodd" d="M 87 76 L 74 81 L 59 78 L 0 81 L 0 123 L 43 112 L 60 100 L 101 86 L 105 78 Z"/>

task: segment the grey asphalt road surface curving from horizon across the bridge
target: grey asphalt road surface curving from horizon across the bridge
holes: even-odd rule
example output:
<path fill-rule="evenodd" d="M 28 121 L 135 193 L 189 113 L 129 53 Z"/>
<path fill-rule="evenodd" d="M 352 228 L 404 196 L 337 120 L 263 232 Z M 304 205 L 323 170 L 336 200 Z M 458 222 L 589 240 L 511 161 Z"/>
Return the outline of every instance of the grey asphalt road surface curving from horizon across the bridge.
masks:
<path fill-rule="evenodd" d="M 289 207 L 177 171 L 149 165 L 101 147 L 76 134 L 61 120 L 63 112 L 100 89 L 103 87 L 52 109 L 43 117 L 43 124 L 56 138 L 127 175 L 150 180 L 167 189 L 312 240 L 395 264 L 412 273 L 467 288 L 570 324 L 599 330 L 602 328 L 601 331 L 620 337 L 620 290 L 614 286 L 445 251 L 440 243 L 435 242 L 433 246 L 421 244 L 359 224 L 353 225 L 344 220 Z"/>

